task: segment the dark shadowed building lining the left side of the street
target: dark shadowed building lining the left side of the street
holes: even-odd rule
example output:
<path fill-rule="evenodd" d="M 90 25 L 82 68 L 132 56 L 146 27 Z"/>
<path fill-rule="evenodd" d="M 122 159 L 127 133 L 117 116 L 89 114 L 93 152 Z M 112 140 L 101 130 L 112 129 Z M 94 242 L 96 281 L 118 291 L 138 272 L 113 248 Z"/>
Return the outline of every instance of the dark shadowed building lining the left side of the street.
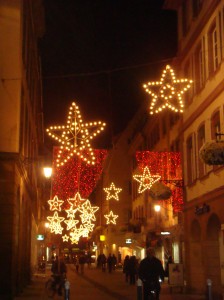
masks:
<path fill-rule="evenodd" d="M 0 298 L 13 299 L 37 263 L 43 108 L 41 1 L 0 2 Z"/>

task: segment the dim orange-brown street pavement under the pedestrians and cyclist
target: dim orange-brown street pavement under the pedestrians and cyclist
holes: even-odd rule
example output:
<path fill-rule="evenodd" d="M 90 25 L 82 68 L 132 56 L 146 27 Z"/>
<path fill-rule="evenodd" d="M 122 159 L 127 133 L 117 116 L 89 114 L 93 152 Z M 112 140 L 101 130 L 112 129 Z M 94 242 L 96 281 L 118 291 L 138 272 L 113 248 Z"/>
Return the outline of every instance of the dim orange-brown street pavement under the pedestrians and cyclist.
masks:
<path fill-rule="evenodd" d="M 68 267 L 68 280 L 71 284 L 70 300 L 140 300 L 137 299 L 137 286 L 129 285 L 125 282 L 122 270 L 116 270 L 111 274 L 102 272 L 95 267 L 90 269 L 86 266 L 84 274 L 75 272 L 72 264 Z M 35 274 L 33 283 L 24 290 L 23 295 L 16 297 L 15 300 L 46 300 L 48 299 L 44 285 L 50 277 L 49 268 L 46 274 Z M 178 293 L 177 293 L 178 292 Z M 55 295 L 54 300 L 62 300 L 61 296 Z M 193 296 L 180 293 L 170 294 L 167 283 L 162 285 L 162 293 L 160 300 L 199 300 L 205 299 L 202 296 Z"/>

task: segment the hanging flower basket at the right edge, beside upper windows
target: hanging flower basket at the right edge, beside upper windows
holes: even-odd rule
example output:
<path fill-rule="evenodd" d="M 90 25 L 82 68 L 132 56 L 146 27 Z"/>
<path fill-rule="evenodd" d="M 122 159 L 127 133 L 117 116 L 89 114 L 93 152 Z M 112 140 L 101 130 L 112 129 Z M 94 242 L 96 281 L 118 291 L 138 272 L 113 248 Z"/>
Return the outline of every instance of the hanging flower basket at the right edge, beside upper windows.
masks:
<path fill-rule="evenodd" d="M 199 157 L 207 165 L 224 165 L 224 141 L 205 143 L 199 150 Z"/>

